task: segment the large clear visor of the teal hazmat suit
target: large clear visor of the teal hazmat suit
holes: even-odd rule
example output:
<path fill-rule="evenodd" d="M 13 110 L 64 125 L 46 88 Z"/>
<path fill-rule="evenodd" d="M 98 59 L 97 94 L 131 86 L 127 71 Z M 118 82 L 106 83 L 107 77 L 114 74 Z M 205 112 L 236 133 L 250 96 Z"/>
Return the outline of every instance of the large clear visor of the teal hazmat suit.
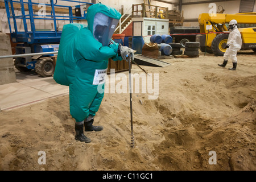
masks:
<path fill-rule="evenodd" d="M 102 46 L 109 45 L 118 21 L 118 19 L 110 18 L 102 13 L 97 13 L 94 16 L 93 36 Z"/>

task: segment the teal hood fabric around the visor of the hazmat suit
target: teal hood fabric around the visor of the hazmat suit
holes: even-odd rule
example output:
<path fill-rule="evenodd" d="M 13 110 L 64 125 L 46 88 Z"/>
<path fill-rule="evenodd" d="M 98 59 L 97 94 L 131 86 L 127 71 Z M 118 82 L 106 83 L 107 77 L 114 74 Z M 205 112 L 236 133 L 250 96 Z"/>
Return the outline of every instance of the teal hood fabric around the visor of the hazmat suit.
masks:
<path fill-rule="evenodd" d="M 120 19 L 121 13 L 119 13 L 117 10 L 115 10 L 113 7 L 103 5 L 101 3 L 94 4 L 90 6 L 87 10 L 86 19 L 88 22 L 88 29 L 93 32 L 93 20 L 96 13 L 102 13 L 106 16 L 109 16 L 110 18 L 114 19 Z"/>

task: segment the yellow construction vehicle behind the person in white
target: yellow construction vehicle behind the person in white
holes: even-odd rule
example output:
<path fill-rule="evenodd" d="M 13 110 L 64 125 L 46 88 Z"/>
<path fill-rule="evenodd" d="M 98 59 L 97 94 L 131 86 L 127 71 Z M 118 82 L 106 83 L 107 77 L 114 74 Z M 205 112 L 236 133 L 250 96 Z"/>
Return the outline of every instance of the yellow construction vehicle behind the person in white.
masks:
<path fill-rule="evenodd" d="M 229 31 L 226 25 L 236 19 L 242 36 L 241 49 L 253 49 L 256 52 L 256 13 L 208 14 L 199 15 L 200 33 L 196 42 L 200 42 L 202 52 L 223 56 L 228 41 Z"/>

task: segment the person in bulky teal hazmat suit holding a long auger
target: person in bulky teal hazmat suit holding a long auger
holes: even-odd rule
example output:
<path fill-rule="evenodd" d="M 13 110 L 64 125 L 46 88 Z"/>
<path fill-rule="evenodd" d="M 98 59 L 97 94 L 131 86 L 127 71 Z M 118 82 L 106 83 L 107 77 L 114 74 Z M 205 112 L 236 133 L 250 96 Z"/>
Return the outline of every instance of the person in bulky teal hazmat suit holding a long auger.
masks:
<path fill-rule="evenodd" d="M 108 60 L 134 60 L 133 49 L 111 40 L 121 14 L 101 3 L 88 8 L 88 26 L 71 23 L 63 27 L 54 80 L 69 86 L 69 109 L 75 118 L 75 139 L 89 143 L 85 131 L 101 131 L 94 126 L 94 115 L 104 97 Z M 98 92 L 101 88 L 101 92 Z"/>

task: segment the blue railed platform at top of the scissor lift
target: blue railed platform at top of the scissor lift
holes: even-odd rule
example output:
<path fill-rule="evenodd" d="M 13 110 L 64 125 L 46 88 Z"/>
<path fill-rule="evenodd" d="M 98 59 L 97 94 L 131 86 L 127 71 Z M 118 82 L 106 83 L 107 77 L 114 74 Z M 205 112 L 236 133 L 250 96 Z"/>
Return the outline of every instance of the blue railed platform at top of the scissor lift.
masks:
<path fill-rule="evenodd" d="M 71 0 L 59 0 L 59 1 L 69 1 L 83 4 L 93 4 L 88 2 L 80 2 L 80 1 L 71 1 Z M 69 23 L 73 23 L 73 20 L 85 19 L 84 16 L 73 16 L 72 6 L 64 6 L 57 5 L 57 0 L 54 3 L 53 0 L 50 0 L 51 4 L 45 4 L 46 7 L 51 7 L 51 15 L 40 16 L 35 14 L 33 11 L 33 5 L 38 6 L 40 3 L 32 2 L 31 0 L 27 0 L 27 2 L 23 2 L 23 0 L 5 0 L 6 14 L 8 18 L 11 38 L 13 42 L 26 42 L 28 44 L 34 43 L 59 43 L 61 37 L 61 31 L 59 31 L 57 27 L 56 20 L 69 20 Z M 20 10 L 22 15 L 16 16 L 14 12 L 14 3 L 20 4 Z M 9 6 L 10 4 L 10 6 Z M 28 13 L 25 13 L 24 6 L 28 7 Z M 60 7 L 64 9 L 68 9 L 68 16 L 61 16 L 55 14 L 55 7 Z M 11 19 L 13 19 L 14 32 L 11 29 Z M 18 31 L 16 19 L 23 20 L 24 31 Z M 27 19 L 30 20 L 31 31 L 28 31 Z M 35 28 L 35 20 L 53 20 L 54 30 L 53 31 L 38 31 Z"/>

